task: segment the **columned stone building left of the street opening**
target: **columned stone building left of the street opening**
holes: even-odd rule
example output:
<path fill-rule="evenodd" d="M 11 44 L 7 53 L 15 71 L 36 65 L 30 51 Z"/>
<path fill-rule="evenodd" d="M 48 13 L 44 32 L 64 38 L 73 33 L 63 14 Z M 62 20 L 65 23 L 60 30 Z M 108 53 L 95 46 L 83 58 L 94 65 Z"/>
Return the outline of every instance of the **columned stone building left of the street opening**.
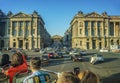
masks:
<path fill-rule="evenodd" d="M 44 27 L 45 23 L 42 17 L 36 11 L 32 14 L 8 12 L 2 24 L 1 28 L 5 29 L 2 40 L 4 48 L 44 48 L 48 44 L 45 42 L 46 39 L 51 39 Z"/>

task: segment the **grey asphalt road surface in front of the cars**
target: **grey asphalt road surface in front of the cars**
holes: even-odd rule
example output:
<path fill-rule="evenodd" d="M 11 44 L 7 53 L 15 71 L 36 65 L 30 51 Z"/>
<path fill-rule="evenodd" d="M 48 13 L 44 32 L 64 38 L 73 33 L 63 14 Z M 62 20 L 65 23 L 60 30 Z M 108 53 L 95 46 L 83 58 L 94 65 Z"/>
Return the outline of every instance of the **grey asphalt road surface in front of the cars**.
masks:
<path fill-rule="evenodd" d="M 90 70 L 96 73 L 101 79 L 103 78 L 116 78 L 116 75 L 120 77 L 120 54 L 119 53 L 99 53 L 104 56 L 105 61 L 92 65 L 89 62 L 90 55 L 85 56 L 83 62 L 73 62 L 65 55 L 63 59 L 50 60 L 47 66 L 43 66 L 45 69 L 62 72 L 73 71 L 74 67 L 79 67 L 81 71 Z M 119 74 L 119 75 L 118 75 Z M 119 78 L 118 78 L 119 79 Z"/>

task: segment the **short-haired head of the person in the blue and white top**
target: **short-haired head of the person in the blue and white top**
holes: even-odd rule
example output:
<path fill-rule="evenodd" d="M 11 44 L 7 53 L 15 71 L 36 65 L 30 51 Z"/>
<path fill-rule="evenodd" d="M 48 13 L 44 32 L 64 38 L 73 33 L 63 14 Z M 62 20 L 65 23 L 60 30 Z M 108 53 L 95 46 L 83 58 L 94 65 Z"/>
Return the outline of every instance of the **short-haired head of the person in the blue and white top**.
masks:
<path fill-rule="evenodd" d="M 30 60 L 30 69 L 32 71 L 39 70 L 41 68 L 41 60 L 40 57 L 33 57 Z"/>

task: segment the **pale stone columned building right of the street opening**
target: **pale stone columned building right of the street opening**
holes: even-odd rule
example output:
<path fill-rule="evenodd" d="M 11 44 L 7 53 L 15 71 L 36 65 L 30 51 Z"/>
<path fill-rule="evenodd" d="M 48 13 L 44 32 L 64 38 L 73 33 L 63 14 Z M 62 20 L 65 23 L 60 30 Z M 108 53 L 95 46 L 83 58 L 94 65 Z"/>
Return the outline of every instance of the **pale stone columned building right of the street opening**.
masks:
<path fill-rule="evenodd" d="M 71 46 L 81 49 L 116 49 L 120 45 L 120 16 L 79 11 L 70 23 Z"/>

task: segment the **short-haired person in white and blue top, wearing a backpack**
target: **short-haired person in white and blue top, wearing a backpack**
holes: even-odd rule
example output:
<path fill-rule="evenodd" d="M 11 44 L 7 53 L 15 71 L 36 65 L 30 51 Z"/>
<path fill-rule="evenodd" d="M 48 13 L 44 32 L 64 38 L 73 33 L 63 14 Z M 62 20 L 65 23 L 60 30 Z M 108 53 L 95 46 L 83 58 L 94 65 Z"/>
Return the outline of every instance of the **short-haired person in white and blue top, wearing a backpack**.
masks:
<path fill-rule="evenodd" d="M 23 81 L 23 83 L 33 83 L 31 78 L 38 76 L 40 79 L 40 83 L 46 83 L 44 75 L 42 72 L 40 72 L 41 68 L 41 60 L 40 57 L 33 57 L 30 60 L 30 70 L 32 71 L 32 74 L 28 77 L 26 77 Z M 38 83 L 38 82 L 37 82 Z"/>

